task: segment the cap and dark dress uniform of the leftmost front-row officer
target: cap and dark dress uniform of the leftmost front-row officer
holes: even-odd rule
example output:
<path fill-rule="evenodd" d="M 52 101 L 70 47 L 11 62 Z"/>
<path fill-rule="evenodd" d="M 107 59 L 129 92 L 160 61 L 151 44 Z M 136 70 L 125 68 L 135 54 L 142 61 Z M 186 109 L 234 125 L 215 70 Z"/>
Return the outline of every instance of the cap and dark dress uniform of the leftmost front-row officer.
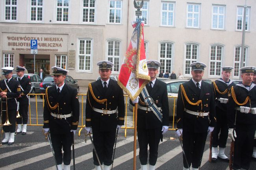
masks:
<path fill-rule="evenodd" d="M 59 67 L 52 69 L 54 77 L 67 75 L 65 69 Z M 45 132 L 50 128 L 58 170 L 62 170 L 62 162 L 64 170 L 70 170 L 72 135 L 77 129 L 79 114 L 79 101 L 75 88 L 65 83 L 60 87 L 56 84 L 46 88 L 43 128 Z M 61 148 L 64 151 L 63 155 Z"/>

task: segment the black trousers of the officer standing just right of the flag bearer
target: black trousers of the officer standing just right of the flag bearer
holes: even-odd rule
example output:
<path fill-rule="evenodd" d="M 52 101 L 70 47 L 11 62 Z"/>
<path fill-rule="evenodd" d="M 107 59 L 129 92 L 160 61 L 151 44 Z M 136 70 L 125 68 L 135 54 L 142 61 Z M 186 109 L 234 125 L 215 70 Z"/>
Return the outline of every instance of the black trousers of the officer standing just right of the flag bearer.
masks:
<path fill-rule="evenodd" d="M 198 168 L 201 164 L 202 155 L 204 153 L 204 145 L 207 137 L 205 133 L 193 133 L 188 131 L 182 132 L 183 148 L 187 157 L 189 166 L 192 168 Z M 186 159 L 183 155 L 183 166 L 188 168 Z"/>

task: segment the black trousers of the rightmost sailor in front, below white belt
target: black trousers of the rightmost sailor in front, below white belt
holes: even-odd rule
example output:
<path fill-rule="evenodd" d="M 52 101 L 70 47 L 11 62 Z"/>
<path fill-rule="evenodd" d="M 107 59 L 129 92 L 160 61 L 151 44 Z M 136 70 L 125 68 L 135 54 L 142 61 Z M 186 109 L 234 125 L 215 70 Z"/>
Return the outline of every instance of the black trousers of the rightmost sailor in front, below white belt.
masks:
<path fill-rule="evenodd" d="M 249 169 L 256 124 L 236 124 L 233 169 Z"/>

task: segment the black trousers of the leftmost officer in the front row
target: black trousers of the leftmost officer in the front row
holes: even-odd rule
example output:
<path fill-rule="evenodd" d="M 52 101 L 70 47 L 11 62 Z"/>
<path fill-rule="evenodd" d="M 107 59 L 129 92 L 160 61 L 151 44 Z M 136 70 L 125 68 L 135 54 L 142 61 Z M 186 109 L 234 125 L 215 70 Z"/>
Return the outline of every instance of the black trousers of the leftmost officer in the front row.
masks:
<path fill-rule="evenodd" d="M 62 164 L 62 161 L 64 165 L 69 165 L 71 161 L 71 135 L 73 135 L 73 133 L 70 132 L 67 134 L 50 134 L 57 165 Z M 64 151 L 63 155 L 61 148 L 63 148 Z"/>

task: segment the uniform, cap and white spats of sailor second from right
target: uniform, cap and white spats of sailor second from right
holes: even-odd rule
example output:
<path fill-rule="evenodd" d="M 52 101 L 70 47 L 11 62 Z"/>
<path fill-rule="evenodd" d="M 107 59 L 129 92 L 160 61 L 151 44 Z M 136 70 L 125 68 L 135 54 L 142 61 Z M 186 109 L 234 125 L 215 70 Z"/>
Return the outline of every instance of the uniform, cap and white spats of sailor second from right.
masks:
<path fill-rule="evenodd" d="M 232 69 L 234 68 L 222 67 L 222 75 L 224 74 L 223 76 L 225 76 L 224 72 L 231 72 Z M 212 162 L 215 162 L 217 158 L 227 162 L 229 161 L 229 158 L 224 154 L 228 139 L 227 102 L 228 96 L 230 96 L 231 93 L 230 89 L 235 85 L 236 84 L 230 79 L 228 79 L 228 82 L 225 82 L 222 78 L 219 78 L 212 83 L 217 118 L 212 136 Z"/>

